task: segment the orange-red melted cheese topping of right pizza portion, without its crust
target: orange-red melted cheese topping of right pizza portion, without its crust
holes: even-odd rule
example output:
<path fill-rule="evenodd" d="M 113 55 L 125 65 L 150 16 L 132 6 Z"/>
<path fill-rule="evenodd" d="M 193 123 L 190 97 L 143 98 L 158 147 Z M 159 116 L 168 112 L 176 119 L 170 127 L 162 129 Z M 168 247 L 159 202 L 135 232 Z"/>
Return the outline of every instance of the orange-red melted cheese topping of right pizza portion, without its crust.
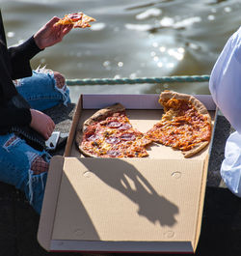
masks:
<path fill-rule="evenodd" d="M 202 141 L 210 141 L 210 123 L 189 101 L 171 99 L 164 107 L 166 112 L 147 132 L 147 138 L 182 151 L 190 150 Z"/>

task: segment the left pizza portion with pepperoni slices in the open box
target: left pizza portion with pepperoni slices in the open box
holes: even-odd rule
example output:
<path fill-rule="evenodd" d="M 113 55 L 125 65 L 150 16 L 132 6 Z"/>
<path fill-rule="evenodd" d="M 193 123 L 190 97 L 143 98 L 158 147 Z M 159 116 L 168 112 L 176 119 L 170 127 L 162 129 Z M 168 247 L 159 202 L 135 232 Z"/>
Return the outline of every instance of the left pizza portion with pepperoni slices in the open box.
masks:
<path fill-rule="evenodd" d="M 151 140 L 133 128 L 120 103 L 102 108 L 76 131 L 76 143 L 84 156 L 144 157 Z"/>

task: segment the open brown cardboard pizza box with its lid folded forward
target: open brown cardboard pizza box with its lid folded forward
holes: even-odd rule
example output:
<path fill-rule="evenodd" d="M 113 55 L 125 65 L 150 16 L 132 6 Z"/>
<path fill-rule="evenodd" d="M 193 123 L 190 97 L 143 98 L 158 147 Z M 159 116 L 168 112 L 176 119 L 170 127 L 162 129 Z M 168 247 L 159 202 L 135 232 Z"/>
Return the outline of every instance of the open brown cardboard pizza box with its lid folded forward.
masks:
<path fill-rule="evenodd" d="M 215 124 L 211 96 L 196 96 Z M 201 233 L 208 147 L 184 158 L 161 145 L 144 158 L 81 156 L 75 130 L 96 110 L 120 102 L 141 131 L 160 120 L 159 95 L 82 95 L 64 156 L 54 156 L 38 240 L 47 251 L 194 253 Z"/>

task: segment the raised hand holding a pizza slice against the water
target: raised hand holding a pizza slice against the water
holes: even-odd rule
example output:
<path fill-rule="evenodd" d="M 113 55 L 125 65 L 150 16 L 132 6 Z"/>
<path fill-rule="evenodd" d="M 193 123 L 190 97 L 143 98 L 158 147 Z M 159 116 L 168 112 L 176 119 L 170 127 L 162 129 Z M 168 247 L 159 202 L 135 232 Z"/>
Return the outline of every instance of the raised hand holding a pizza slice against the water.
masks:
<path fill-rule="evenodd" d="M 59 21 L 57 16 L 52 17 L 40 30 L 34 35 L 36 44 L 40 49 L 60 43 L 67 33 L 72 29 L 73 25 L 60 25 L 54 24 Z"/>

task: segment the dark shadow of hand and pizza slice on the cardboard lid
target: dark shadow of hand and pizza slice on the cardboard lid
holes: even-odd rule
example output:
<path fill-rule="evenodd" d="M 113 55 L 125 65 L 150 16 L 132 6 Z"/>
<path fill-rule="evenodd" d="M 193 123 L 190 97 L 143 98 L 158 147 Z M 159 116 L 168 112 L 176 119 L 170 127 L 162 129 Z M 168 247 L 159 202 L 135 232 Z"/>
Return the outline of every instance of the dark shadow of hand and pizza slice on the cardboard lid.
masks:
<path fill-rule="evenodd" d="M 137 204 L 138 214 L 147 217 L 152 223 L 158 221 L 161 226 L 174 226 L 176 222 L 174 215 L 178 213 L 178 208 L 164 196 L 159 195 L 134 165 L 117 158 L 95 158 L 94 161 L 90 158 L 80 158 L 79 160 L 106 185 L 119 190 Z"/>

